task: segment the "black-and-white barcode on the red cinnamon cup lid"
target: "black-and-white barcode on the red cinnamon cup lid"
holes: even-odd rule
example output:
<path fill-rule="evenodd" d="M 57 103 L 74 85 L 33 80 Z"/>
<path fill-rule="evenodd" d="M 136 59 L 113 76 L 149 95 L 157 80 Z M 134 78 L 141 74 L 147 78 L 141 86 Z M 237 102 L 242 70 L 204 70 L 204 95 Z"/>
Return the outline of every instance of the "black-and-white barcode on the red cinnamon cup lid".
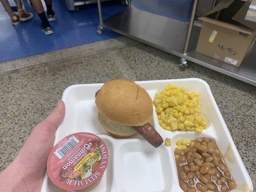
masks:
<path fill-rule="evenodd" d="M 56 151 L 54 151 L 54 154 L 61 159 L 63 156 L 65 156 L 68 152 L 70 152 L 77 144 L 79 143 L 79 140 L 72 136 L 68 139 L 64 144 L 61 145 Z"/>

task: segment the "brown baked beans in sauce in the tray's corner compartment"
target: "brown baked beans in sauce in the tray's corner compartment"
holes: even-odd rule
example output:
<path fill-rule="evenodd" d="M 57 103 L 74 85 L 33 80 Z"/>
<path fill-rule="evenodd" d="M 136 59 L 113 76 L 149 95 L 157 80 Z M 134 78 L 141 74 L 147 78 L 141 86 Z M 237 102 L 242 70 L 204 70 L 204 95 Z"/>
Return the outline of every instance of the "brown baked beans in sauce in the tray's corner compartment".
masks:
<path fill-rule="evenodd" d="M 214 139 L 201 137 L 175 149 L 180 187 L 184 192 L 229 192 L 236 188 Z"/>

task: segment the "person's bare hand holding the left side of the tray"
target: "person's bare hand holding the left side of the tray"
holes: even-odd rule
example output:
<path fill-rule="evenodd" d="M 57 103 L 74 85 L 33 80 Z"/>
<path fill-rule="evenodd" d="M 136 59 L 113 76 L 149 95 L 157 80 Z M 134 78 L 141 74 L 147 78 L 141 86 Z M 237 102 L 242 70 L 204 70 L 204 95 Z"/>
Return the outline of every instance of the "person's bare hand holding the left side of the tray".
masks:
<path fill-rule="evenodd" d="M 65 116 L 65 104 L 57 107 L 30 133 L 14 161 L 0 173 L 2 192 L 40 192 L 55 131 Z"/>

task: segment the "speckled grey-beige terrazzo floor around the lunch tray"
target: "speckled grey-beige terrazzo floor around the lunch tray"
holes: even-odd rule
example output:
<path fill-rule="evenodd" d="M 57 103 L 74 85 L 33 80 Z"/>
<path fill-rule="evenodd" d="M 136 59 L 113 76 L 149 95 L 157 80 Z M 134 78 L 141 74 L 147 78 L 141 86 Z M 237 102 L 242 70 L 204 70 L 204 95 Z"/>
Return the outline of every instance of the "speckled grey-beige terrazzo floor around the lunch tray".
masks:
<path fill-rule="evenodd" d="M 13 160 L 33 126 L 49 114 L 69 85 L 102 83 L 116 78 L 140 81 L 197 77 L 210 85 L 255 185 L 255 87 L 193 63 L 182 72 L 178 64 L 179 58 L 138 43 L 2 73 L 0 135 L 4 136 L 0 137 L 0 170 Z"/>

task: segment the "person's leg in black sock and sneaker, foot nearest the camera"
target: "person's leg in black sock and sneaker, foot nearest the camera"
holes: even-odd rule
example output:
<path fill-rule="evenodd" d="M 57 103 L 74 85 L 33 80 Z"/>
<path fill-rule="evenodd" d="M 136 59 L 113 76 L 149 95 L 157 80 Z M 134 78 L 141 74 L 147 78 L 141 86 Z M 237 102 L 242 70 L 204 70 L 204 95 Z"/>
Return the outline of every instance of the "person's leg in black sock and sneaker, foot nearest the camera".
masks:
<path fill-rule="evenodd" d="M 50 26 L 50 24 L 48 22 L 46 14 L 44 12 L 44 8 L 43 8 L 41 0 L 31 0 L 31 3 L 32 3 L 33 7 L 35 8 L 38 16 L 40 17 L 40 19 L 42 21 L 41 30 L 46 35 L 52 34 L 53 31 L 52 31 L 51 26 Z"/>

